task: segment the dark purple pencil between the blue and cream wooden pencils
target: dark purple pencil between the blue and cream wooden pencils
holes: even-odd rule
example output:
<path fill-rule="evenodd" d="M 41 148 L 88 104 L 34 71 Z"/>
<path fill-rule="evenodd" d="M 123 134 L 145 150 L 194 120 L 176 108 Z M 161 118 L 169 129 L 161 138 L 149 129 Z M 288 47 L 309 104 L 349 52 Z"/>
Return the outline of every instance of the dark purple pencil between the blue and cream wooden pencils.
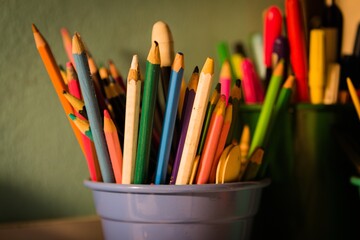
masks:
<path fill-rule="evenodd" d="M 187 133 L 187 130 L 189 127 L 189 121 L 190 121 L 192 106 L 194 103 L 198 82 L 199 82 L 199 68 L 196 66 L 191 75 L 189 84 L 185 91 L 184 106 L 183 106 L 183 110 L 182 110 L 182 114 L 181 114 L 182 117 L 181 117 L 181 124 L 180 124 L 181 125 L 181 135 L 180 135 L 180 139 L 179 139 L 178 148 L 176 150 L 176 156 L 175 156 L 175 161 L 174 161 L 174 165 L 173 165 L 173 170 L 171 172 L 170 184 L 175 184 L 175 182 L 176 182 L 176 176 L 177 176 L 179 166 L 180 166 L 181 155 L 182 155 L 182 151 L 184 148 L 186 133 Z"/>

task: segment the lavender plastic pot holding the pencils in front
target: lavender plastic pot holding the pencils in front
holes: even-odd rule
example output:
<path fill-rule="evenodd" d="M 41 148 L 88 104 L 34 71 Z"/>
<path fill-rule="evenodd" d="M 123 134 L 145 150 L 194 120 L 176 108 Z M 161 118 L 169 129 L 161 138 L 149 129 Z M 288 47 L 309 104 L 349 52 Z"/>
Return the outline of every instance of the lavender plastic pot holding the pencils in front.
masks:
<path fill-rule="evenodd" d="M 203 185 L 84 181 L 110 239 L 250 239 L 269 179 Z"/>

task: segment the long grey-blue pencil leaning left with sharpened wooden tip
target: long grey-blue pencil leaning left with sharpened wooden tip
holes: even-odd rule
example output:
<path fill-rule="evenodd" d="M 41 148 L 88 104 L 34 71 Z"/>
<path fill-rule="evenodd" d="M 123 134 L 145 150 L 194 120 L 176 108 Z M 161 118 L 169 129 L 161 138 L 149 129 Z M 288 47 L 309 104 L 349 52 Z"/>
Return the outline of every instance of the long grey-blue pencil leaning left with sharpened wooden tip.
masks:
<path fill-rule="evenodd" d="M 88 60 L 80 36 L 76 33 L 72 39 L 72 53 L 74 56 L 76 71 L 79 78 L 81 93 L 83 94 L 88 119 L 93 134 L 96 154 L 99 160 L 100 171 L 104 182 L 115 182 L 112 171 L 110 156 L 107 151 L 99 105 L 95 95 L 95 88 L 90 75 Z"/>

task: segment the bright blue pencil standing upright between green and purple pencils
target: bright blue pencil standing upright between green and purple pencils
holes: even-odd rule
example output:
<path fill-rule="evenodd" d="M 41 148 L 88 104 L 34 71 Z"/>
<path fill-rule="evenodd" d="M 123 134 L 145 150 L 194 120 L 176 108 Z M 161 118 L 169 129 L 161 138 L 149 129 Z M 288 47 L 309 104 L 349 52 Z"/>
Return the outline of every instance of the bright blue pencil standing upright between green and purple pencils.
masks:
<path fill-rule="evenodd" d="M 155 184 L 164 184 L 170 158 L 170 148 L 175 129 L 175 120 L 179 103 L 181 80 L 184 74 L 184 56 L 177 53 L 172 66 L 168 98 L 166 101 L 163 129 L 157 158 Z"/>

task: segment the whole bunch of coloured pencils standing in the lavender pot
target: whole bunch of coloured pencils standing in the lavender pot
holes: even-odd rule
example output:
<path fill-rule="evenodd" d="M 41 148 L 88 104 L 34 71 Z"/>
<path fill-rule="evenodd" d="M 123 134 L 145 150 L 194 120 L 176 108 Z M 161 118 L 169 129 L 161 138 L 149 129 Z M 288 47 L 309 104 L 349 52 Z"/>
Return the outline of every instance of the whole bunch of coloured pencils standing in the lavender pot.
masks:
<path fill-rule="evenodd" d="M 264 102 L 252 134 L 238 121 L 246 78 L 234 80 L 226 60 L 212 89 L 214 60 L 208 57 L 186 83 L 185 55 L 174 52 L 171 31 L 162 21 L 153 25 L 143 79 L 135 54 L 126 83 L 111 60 L 108 67 L 97 67 L 79 33 L 70 37 L 61 29 L 68 56 L 64 69 L 35 25 L 32 30 L 92 181 L 180 185 L 257 179 L 270 123 L 291 97 L 293 76 L 281 87 L 283 60 L 271 73 L 266 94 L 255 91 L 248 97 Z M 251 61 L 243 65 L 256 75 Z"/>

